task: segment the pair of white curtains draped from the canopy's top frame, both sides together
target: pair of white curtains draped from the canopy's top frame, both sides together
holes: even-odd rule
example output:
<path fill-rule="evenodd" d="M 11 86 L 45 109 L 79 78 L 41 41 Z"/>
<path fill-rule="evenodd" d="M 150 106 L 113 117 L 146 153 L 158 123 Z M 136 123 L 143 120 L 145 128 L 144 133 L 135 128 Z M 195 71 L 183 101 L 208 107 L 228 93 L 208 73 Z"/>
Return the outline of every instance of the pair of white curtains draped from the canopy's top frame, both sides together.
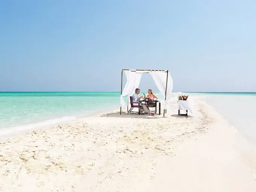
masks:
<path fill-rule="evenodd" d="M 139 87 L 142 73 L 149 73 L 152 76 L 157 88 L 165 99 L 164 101 L 161 101 L 161 106 L 163 106 L 163 109 L 168 107 L 168 100 L 171 99 L 173 89 L 172 77 L 168 70 L 122 70 L 122 72 L 125 72 L 127 82 L 120 97 L 121 107 L 125 107 L 125 101 L 123 100 L 124 96 L 127 96 L 127 103 L 129 104 L 130 96 L 132 96 L 135 89 Z"/>

